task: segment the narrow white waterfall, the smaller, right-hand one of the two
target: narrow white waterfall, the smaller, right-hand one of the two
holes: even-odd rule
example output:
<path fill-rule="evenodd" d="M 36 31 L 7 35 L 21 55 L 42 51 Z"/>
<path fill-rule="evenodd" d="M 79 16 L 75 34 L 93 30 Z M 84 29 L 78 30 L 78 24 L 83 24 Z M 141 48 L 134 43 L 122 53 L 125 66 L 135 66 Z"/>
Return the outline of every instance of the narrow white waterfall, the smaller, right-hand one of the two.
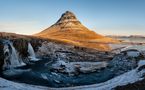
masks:
<path fill-rule="evenodd" d="M 31 61 L 38 61 L 39 59 L 36 58 L 34 49 L 31 45 L 31 43 L 28 43 L 28 53 L 29 53 L 29 58 L 31 59 Z"/>

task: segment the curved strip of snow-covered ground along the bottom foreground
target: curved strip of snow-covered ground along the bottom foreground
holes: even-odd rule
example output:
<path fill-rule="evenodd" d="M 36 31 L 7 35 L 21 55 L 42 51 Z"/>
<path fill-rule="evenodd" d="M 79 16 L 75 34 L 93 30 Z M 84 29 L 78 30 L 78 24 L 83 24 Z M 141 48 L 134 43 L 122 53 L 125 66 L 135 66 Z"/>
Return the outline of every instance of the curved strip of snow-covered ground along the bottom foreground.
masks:
<path fill-rule="evenodd" d="M 28 84 L 14 83 L 0 78 L 0 90 L 111 90 L 116 86 L 127 85 L 129 83 L 134 83 L 136 81 L 142 80 L 142 76 L 145 74 L 145 70 L 142 69 L 141 71 L 138 71 L 138 68 L 143 65 L 145 65 L 145 60 L 140 60 L 137 68 L 106 82 L 69 88 L 46 88 Z"/>

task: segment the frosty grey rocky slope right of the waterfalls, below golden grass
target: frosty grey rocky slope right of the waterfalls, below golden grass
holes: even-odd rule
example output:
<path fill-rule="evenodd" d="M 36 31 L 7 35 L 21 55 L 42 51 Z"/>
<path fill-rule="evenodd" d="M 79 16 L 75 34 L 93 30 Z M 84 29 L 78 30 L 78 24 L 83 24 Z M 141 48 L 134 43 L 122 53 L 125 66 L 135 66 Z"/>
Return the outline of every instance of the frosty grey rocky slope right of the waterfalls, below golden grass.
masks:
<path fill-rule="evenodd" d="M 113 53 L 101 52 L 94 49 L 76 47 L 73 45 L 55 44 L 53 42 L 44 42 L 39 47 L 37 55 L 40 57 L 51 56 L 56 60 L 64 61 L 108 61 L 113 57 Z"/>

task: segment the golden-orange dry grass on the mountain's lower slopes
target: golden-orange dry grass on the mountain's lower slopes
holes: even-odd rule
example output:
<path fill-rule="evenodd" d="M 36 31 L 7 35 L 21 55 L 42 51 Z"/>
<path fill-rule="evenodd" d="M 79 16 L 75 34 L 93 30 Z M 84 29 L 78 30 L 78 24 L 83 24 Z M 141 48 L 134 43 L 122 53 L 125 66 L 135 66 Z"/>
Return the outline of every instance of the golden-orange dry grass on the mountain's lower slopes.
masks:
<path fill-rule="evenodd" d="M 103 43 L 118 43 L 117 40 L 99 35 L 93 31 L 90 31 L 81 24 L 77 27 L 79 27 L 79 29 L 70 28 L 64 30 L 59 25 L 56 25 L 47 28 L 35 36 L 58 40 L 76 46 L 105 51 L 110 50 L 110 48 L 107 44 Z"/>

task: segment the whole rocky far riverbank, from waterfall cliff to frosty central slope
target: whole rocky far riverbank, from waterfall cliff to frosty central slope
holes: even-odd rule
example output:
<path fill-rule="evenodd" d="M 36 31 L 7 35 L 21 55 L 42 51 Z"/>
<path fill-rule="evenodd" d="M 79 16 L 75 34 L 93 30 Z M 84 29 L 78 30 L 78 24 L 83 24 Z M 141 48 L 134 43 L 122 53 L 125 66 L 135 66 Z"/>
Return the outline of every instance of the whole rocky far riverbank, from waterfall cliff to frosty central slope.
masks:
<path fill-rule="evenodd" d="M 111 60 L 113 55 L 107 51 L 98 51 L 95 49 L 74 46 L 71 44 L 63 43 L 61 41 L 44 39 L 34 36 L 19 35 L 14 33 L 0 33 L 0 67 L 4 64 L 4 41 L 12 42 L 17 54 L 23 60 L 27 60 L 28 43 L 31 43 L 37 57 L 49 57 L 51 60 L 57 61 L 58 59 L 66 61 L 108 61 Z M 2 71 L 2 70 L 1 70 Z"/>

